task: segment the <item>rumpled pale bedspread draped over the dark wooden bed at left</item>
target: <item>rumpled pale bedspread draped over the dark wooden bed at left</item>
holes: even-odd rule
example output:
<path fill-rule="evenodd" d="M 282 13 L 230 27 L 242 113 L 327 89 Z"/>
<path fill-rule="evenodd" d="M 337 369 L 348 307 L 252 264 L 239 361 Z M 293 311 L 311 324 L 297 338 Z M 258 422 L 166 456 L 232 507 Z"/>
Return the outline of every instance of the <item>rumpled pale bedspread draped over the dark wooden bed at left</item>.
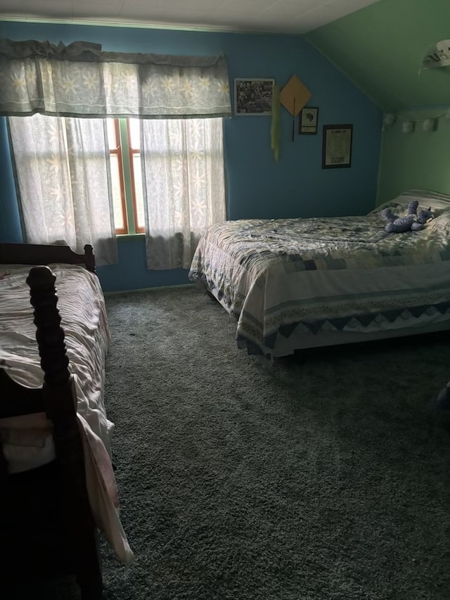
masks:
<path fill-rule="evenodd" d="M 129 562 L 129 548 L 117 511 L 117 490 L 110 460 L 113 423 L 103 401 L 109 330 L 100 283 L 75 265 L 49 265 L 56 275 L 58 309 L 65 331 L 80 432 L 86 461 L 91 509 L 117 556 Z M 26 279 L 30 267 L 0 265 L 0 366 L 15 381 L 40 388 L 41 370 Z M 1 402 L 1 399 L 0 399 Z M 11 473 L 48 463 L 55 457 L 51 422 L 45 414 L 0 419 L 4 455 Z"/>

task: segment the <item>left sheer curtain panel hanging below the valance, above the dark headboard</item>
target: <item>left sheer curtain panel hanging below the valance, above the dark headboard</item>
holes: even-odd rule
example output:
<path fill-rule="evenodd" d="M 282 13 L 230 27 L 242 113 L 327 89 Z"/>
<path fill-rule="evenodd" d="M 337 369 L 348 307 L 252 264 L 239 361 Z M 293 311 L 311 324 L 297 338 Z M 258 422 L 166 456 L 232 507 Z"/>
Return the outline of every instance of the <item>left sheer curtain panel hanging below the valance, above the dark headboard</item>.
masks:
<path fill-rule="evenodd" d="M 96 263 L 117 262 L 110 162 L 103 119 L 10 117 L 28 243 L 63 243 Z"/>

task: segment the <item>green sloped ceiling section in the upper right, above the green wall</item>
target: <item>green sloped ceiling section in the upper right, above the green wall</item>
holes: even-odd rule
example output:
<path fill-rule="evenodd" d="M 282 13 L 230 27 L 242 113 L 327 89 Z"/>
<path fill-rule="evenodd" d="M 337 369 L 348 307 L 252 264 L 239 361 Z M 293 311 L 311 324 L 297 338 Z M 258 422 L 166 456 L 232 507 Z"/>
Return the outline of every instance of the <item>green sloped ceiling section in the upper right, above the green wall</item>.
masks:
<path fill-rule="evenodd" d="M 449 0 L 380 0 L 305 37 L 383 110 L 450 106 L 450 67 L 420 71 L 450 39 Z"/>

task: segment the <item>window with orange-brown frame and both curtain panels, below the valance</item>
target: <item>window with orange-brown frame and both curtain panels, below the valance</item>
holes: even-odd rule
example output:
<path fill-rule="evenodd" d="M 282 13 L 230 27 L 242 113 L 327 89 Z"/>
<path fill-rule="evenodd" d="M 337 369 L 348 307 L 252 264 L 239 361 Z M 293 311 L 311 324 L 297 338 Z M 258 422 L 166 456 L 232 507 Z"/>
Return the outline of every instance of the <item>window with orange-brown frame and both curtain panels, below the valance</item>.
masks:
<path fill-rule="evenodd" d="M 113 264 L 116 235 L 145 232 L 149 269 L 188 269 L 203 231 L 226 218 L 220 117 L 37 114 L 8 124 L 30 243 L 80 252 L 87 240 Z"/>

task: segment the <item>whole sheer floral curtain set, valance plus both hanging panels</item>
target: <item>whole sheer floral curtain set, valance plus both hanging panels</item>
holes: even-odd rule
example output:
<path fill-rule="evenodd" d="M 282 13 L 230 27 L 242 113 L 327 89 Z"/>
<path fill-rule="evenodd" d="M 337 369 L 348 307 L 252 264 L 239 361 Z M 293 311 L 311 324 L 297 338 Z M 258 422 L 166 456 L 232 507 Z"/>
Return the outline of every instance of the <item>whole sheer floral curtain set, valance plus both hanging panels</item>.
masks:
<path fill-rule="evenodd" d="M 0 115 L 10 117 L 30 242 L 92 243 L 98 264 L 117 262 L 104 117 L 141 119 L 149 269 L 188 268 L 200 232 L 225 218 L 218 117 L 231 115 L 231 101 L 223 54 L 0 39 Z"/>

